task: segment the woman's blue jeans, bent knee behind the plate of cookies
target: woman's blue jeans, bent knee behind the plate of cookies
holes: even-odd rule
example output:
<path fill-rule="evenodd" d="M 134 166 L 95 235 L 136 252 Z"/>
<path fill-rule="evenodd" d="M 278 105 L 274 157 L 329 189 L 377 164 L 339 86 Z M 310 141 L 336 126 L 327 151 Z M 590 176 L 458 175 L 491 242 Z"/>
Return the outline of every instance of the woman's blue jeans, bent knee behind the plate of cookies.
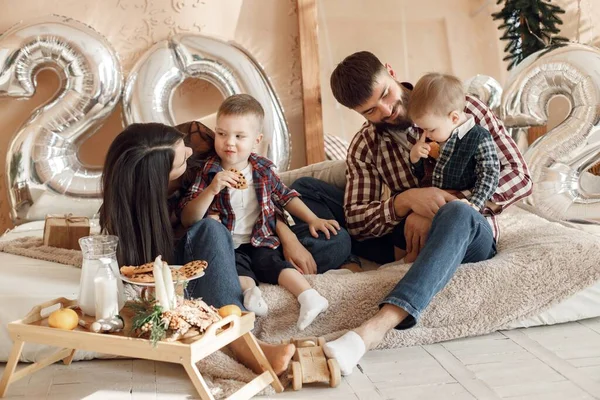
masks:
<path fill-rule="evenodd" d="M 217 308 L 235 304 L 244 310 L 233 240 L 220 222 L 205 218 L 191 226 L 177 243 L 177 258 L 180 264 L 194 260 L 208 262 L 205 275 L 188 283 L 189 297 L 202 297 L 207 304 Z"/>

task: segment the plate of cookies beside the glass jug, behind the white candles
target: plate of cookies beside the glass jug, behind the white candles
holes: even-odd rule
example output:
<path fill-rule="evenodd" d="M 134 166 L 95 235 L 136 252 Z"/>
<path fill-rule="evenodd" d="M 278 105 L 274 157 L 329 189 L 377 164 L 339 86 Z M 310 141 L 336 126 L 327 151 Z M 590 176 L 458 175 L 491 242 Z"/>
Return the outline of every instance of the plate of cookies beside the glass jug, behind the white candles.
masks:
<path fill-rule="evenodd" d="M 163 261 L 164 264 L 166 264 Z M 204 276 L 204 270 L 208 263 L 203 260 L 190 261 L 185 265 L 169 265 L 173 282 L 188 282 Z M 120 268 L 121 280 L 138 286 L 154 287 L 154 263 L 143 265 L 126 265 Z"/>

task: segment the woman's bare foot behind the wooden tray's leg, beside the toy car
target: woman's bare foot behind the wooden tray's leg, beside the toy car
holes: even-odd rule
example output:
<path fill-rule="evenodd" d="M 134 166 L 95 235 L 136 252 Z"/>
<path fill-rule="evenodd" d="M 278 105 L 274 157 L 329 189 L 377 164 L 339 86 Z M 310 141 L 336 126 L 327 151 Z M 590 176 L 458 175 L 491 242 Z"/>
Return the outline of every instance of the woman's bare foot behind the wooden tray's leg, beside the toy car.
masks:
<path fill-rule="evenodd" d="M 258 341 L 258 345 L 277 375 L 280 375 L 287 370 L 290 360 L 294 355 L 294 351 L 296 350 L 296 346 L 293 344 L 268 344 Z M 229 347 L 239 362 L 257 374 L 263 372 L 260 364 L 256 361 L 254 355 L 242 339 L 232 342 Z"/>

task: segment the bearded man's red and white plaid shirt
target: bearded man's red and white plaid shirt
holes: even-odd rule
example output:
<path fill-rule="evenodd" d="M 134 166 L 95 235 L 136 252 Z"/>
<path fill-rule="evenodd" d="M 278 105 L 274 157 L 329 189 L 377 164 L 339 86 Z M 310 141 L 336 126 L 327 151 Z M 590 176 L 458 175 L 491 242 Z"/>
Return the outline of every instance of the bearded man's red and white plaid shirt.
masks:
<path fill-rule="evenodd" d="M 472 115 L 475 123 L 487 129 L 494 139 L 500 162 L 498 189 L 492 201 L 502 208 L 531 194 L 529 171 L 517 145 L 506 133 L 504 125 L 481 100 L 467 96 L 465 112 Z M 346 158 L 346 192 L 344 211 L 347 228 L 358 239 L 380 237 L 390 233 L 403 219 L 396 216 L 394 195 L 419 187 L 410 170 L 410 149 L 419 133 L 410 128 L 406 131 L 381 132 L 365 123 L 348 149 Z M 384 185 L 391 189 L 389 199 L 381 199 Z M 469 193 L 465 193 L 468 195 Z M 486 207 L 485 212 L 494 210 Z M 494 215 L 488 221 L 498 240 L 499 229 Z"/>

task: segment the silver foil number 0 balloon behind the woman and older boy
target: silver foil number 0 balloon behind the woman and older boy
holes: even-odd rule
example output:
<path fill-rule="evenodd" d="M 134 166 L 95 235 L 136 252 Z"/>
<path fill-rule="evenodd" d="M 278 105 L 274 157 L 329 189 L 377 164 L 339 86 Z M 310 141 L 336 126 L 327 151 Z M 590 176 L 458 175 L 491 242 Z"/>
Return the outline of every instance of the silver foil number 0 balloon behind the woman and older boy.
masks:
<path fill-rule="evenodd" d="M 289 168 L 290 135 L 279 99 L 256 60 L 233 42 L 179 35 L 154 45 L 127 79 L 123 95 L 125 123 L 175 125 L 171 99 L 187 78 L 207 80 L 224 97 L 236 93 L 254 96 L 265 109 L 267 157 L 280 171 Z"/>

